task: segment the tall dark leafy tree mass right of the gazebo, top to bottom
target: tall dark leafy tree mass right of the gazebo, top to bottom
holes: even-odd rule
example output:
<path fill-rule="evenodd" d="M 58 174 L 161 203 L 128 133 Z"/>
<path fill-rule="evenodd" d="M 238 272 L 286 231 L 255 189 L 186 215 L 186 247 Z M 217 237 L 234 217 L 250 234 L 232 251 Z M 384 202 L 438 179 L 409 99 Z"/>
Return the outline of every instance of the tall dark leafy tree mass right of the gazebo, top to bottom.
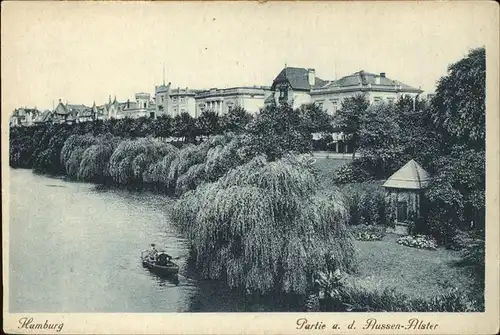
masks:
<path fill-rule="evenodd" d="M 429 164 L 429 211 L 440 223 L 484 227 L 485 50 L 471 50 L 448 68 L 431 101 L 439 155 Z"/>

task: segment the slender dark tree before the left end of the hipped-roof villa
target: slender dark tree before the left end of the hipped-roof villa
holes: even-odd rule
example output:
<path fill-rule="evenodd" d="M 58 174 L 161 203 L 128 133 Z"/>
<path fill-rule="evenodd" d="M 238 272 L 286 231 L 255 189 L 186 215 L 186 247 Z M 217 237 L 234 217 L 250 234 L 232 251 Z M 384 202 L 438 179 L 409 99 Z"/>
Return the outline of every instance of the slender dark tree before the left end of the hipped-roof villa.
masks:
<path fill-rule="evenodd" d="M 344 134 L 346 142 L 352 147 L 352 157 L 356 155 L 359 146 L 360 129 L 363 114 L 369 102 L 363 95 L 347 98 L 342 102 L 342 108 L 335 114 L 335 128 Z"/>

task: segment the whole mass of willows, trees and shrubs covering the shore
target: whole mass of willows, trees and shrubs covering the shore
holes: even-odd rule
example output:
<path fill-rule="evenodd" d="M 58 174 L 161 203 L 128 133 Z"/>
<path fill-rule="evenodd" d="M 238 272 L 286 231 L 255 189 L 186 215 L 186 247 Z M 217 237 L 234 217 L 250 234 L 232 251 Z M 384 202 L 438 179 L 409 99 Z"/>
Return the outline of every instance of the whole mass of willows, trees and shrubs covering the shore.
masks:
<path fill-rule="evenodd" d="M 10 165 L 178 198 L 169 215 L 190 239 L 201 276 L 249 296 L 299 296 L 308 310 L 322 311 L 480 311 L 484 71 L 473 66 L 484 67 L 484 49 L 450 66 L 430 103 L 402 97 L 372 106 L 353 97 L 335 118 L 314 105 L 280 105 L 255 116 L 237 109 L 224 118 L 207 113 L 197 120 L 181 115 L 11 128 Z M 457 81 L 457 73 L 470 78 Z M 465 91 L 478 96 L 454 92 L 462 82 L 473 83 L 477 89 Z M 456 118 L 450 96 L 474 104 Z M 343 131 L 362 155 L 319 173 L 318 164 L 301 154 L 312 149 L 312 133 L 332 129 Z M 168 142 L 171 137 L 178 141 Z M 451 290 L 414 297 L 353 280 L 359 271 L 356 243 L 383 243 L 385 227 L 394 224 L 379 180 L 410 158 L 433 179 L 421 217 L 410 225 L 415 237 L 394 245 L 422 247 L 416 255 L 428 257 L 422 255 L 439 251 L 425 250 L 431 239 L 419 235 L 430 235 L 431 249 L 464 249 L 461 263 L 473 270 L 477 295 Z M 474 239 L 462 234 L 469 226 Z"/>

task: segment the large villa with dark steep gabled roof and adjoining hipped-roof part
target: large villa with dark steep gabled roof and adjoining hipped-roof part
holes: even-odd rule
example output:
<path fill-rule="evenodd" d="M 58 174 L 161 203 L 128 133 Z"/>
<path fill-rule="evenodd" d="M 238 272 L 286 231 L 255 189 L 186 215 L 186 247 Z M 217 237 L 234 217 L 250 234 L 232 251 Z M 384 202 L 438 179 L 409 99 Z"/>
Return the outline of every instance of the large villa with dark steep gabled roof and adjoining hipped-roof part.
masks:
<path fill-rule="evenodd" d="M 293 108 L 316 103 L 329 114 L 341 107 L 345 98 L 363 94 L 370 103 L 393 102 L 402 95 L 415 97 L 423 91 L 400 81 L 389 79 L 384 72 L 379 74 L 363 70 L 338 80 L 323 80 L 316 77 L 314 69 L 286 67 L 274 79 L 273 95 L 266 104 L 286 102 Z"/>

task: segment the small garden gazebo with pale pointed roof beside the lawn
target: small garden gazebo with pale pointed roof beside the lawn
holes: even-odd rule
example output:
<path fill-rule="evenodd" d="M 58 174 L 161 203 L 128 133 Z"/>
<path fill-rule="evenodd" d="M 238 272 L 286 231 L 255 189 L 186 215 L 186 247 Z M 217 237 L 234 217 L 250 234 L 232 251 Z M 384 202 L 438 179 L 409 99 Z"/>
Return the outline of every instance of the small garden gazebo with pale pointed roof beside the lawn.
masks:
<path fill-rule="evenodd" d="M 408 223 L 419 217 L 421 197 L 429 181 L 429 173 L 412 159 L 384 183 L 396 231 L 405 233 Z"/>

